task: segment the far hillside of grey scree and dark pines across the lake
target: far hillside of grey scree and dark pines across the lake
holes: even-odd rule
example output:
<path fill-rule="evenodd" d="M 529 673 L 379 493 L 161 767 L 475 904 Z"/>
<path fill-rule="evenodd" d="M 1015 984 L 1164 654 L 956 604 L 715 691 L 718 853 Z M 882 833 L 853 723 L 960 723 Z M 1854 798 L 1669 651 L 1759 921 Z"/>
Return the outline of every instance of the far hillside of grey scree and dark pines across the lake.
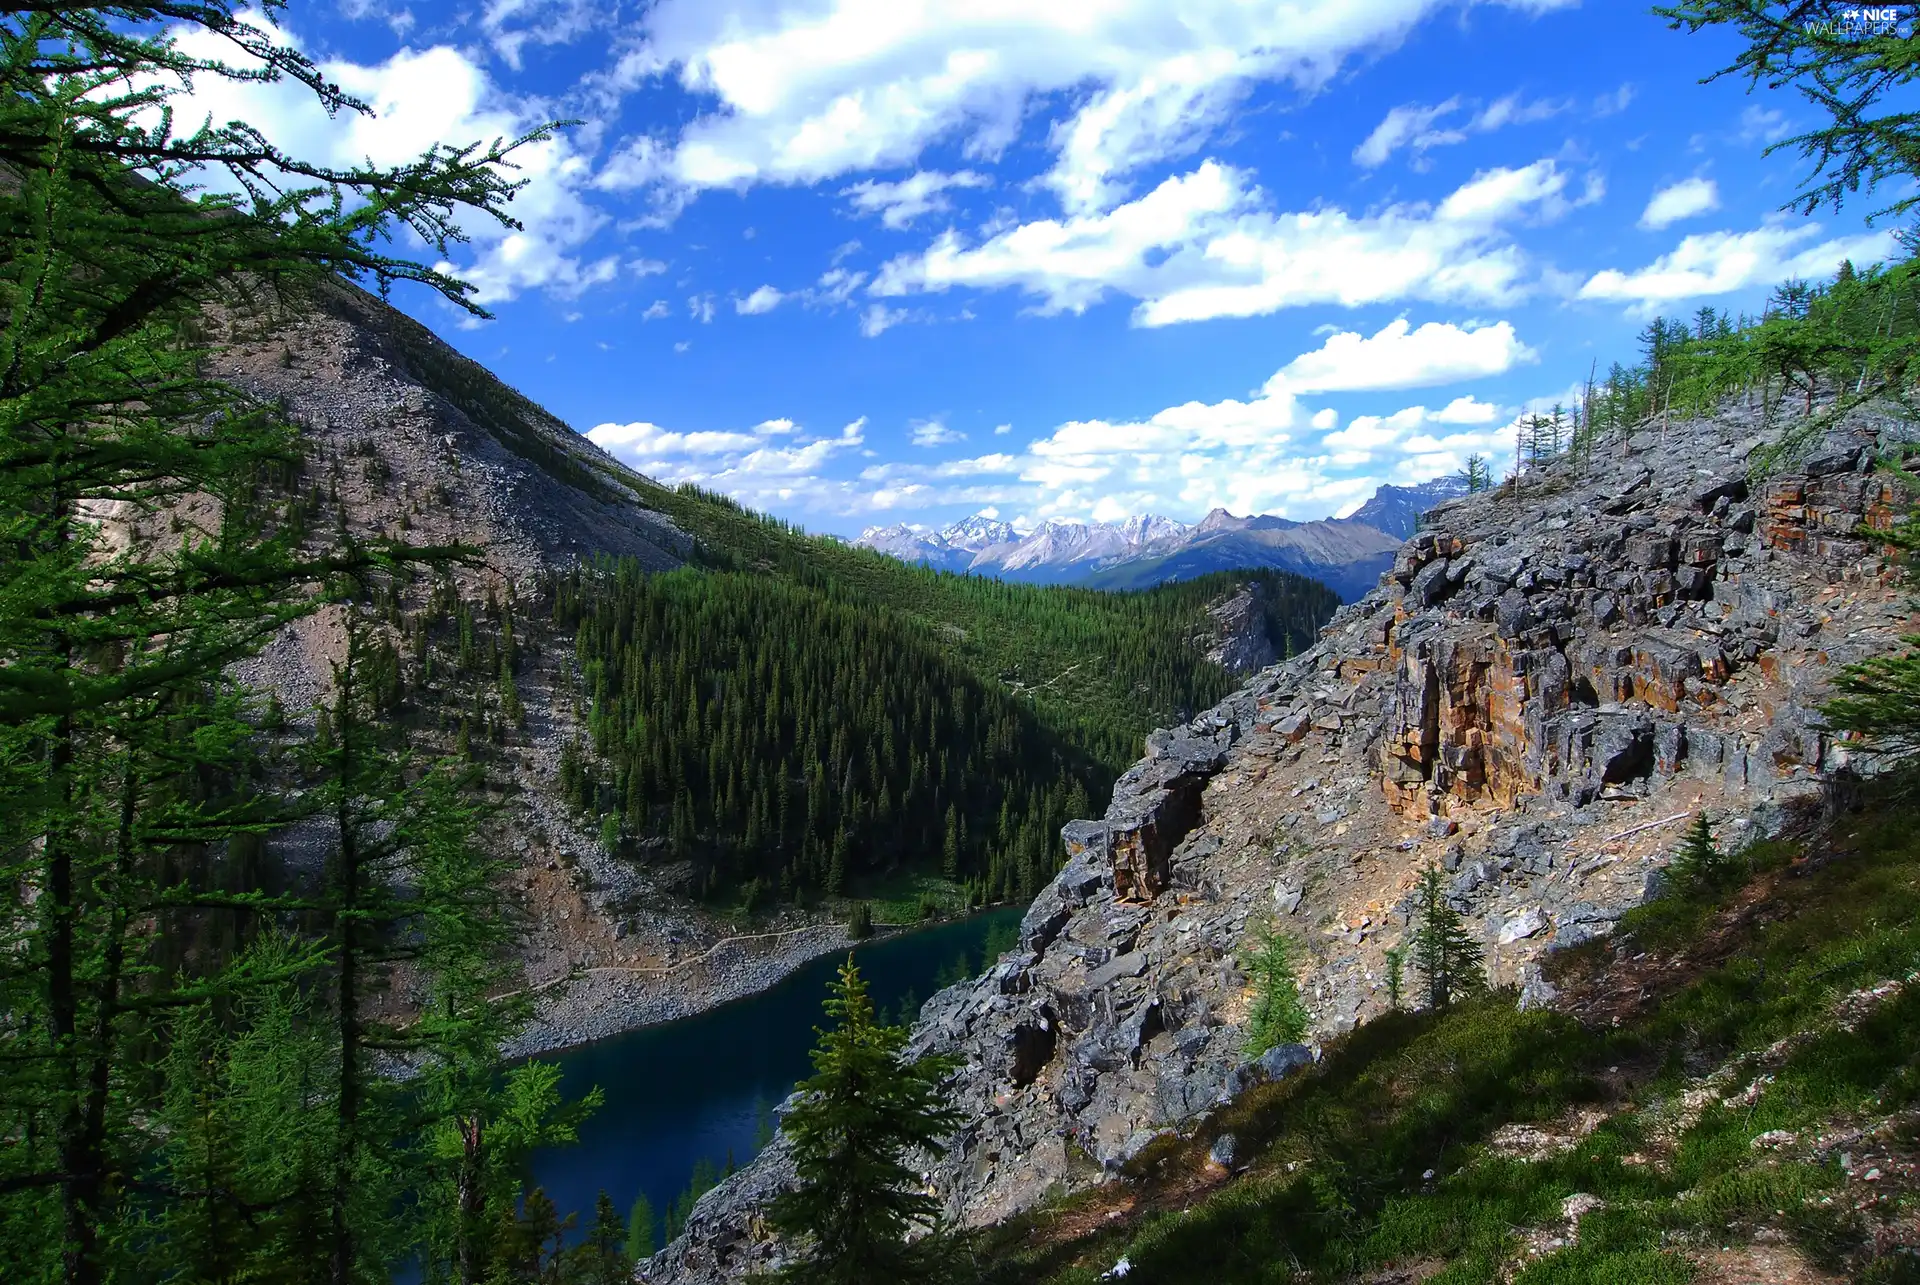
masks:
<path fill-rule="evenodd" d="M 749 922 L 822 924 L 831 907 L 799 903 L 895 870 L 945 874 L 956 899 L 1031 895 L 1054 868 L 1044 836 L 1102 805 L 1150 726 L 1219 699 L 1233 682 L 1223 659 L 1304 647 L 1334 605 L 1271 574 L 1148 595 L 995 586 L 810 538 L 624 469 L 344 286 L 305 311 L 230 321 L 227 338 L 219 373 L 303 430 L 294 486 L 315 540 L 482 551 L 449 574 L 405 578 L 374 611 L 394 640 L 396 713 L 424 747 L 486 763 L 499 791 L 497 841 L 528 910 L 528 983 L 588 970 L 622 995 L 580 991 L 540 1041 L 564 1039 L 566 1022 L 605 1030 L 732 993 L 762 974 L 739 951 L 708 957 L 714 943 Z M 595 557 L 611 561 L 582 574 Z M 1248 584 L 1258 609 L 1210 615 Z M 616 617 L 634 611 L 666 640 L 697 642 L 674 653 L 655 695 L 620 705 L 601 684 L 632 682 L 614 640 L 637 618 Z M 328 607 L 242 665 L 288 711 L 288 736 L 311 732 L 344 624 L 346 609 Z M 739 670 L 743 647 L 774 661 L 770 645 L 791 653 L 785 668 Z M 768 739 L 758 715 L 781 691 L 797 718 Z M 672 716 L 632 741 L 664 709 Z M 739 732 L 749 709 L 758 739 Z M 987 739 L 970 741 L 970 728 Z M 874 755 L 895 741 L 899 759 Z M 860 747 L 858 770 L 847 743 Z M 970 772 L 968 755 L 989 747 L 1027 766 Z M 789 778 L 814 784 L 789 797 L 778 784 Z M 977 784 L 948 784 L 962 778 Z M 893 832 L 904 814 L 922 828 Z M 952 859 L 948 828 L 960 832 Z M 294 870 L 323 845 L 296 828 L 271 851 Z M 837 939 L 824 926 L 787 945 Z M 685 958 L 703 962 L 666 972 Z M 636 999 L 668 976 L 668 1008 Z"/>

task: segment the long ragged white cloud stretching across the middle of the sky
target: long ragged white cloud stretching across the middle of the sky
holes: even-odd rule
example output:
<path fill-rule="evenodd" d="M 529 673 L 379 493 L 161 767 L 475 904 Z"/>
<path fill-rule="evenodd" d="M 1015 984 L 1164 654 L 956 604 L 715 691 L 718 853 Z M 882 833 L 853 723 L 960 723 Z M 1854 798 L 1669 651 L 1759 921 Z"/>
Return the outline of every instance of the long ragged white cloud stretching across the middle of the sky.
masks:
<path fill-rule="evenodd" d="M 1206 161 L 1108 213 L 1021 223 L 977 246 L 943 232 L 924 254 L 889 261 L 870 292 L 1014 286 L 1046 313 L 1119 292 L 1139 300 L 1133 319 L 1144 327 L 1309 303 L 1503 303 L 1530 284 L 1503 225 L 1563 213 L 1565 186 L 1544 159 L 1475 175 L 1438 207 L 1273 213 L 1244 171 Z"/>

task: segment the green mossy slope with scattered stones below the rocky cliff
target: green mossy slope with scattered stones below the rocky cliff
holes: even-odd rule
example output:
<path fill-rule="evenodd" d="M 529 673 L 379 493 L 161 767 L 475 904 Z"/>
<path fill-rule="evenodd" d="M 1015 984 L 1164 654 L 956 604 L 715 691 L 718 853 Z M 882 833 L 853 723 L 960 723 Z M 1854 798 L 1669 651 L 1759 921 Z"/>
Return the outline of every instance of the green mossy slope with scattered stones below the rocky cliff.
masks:
<path fill-rule="evenodd" d="M 1359 1028 L 1123 1181 L 973 1237 L 975 1279 L 1125 1258 L 1129 1285 L 1678 1285 L 1755 1279 L 1715 1254 L 1774 1247 L 1797 1275 L 1766 1279 L 1920 1281 L 1920 805 L 1749 849 L 1740 882 L 1553 972 L 1553 1010 L 1494 993 Z M 1206 1164 L 1221 1133 L 1236 1176 Z M 1576 1224 L 1574 1195 L 1599 1202 Z"/>

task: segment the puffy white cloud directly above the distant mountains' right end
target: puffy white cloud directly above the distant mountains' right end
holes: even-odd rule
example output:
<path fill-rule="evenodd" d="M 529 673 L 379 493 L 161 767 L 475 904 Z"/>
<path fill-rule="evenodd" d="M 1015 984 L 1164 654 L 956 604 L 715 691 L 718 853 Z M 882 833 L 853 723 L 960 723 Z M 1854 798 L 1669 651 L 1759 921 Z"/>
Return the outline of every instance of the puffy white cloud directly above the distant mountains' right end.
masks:
<path fill-rule="evenodd" d="M 1317 350 L 1281 367 L 1267 388 L 1292 392 L 1425 388 L 1501 375 L 1524 361 L 1538 361 L 1538 353 L 1519 340 L 1511 321 L 1467 328 L 1428 321 L 1415 330 L 1402 317 L 1373 338 L 1354 330 L 1329 334 Z"/>

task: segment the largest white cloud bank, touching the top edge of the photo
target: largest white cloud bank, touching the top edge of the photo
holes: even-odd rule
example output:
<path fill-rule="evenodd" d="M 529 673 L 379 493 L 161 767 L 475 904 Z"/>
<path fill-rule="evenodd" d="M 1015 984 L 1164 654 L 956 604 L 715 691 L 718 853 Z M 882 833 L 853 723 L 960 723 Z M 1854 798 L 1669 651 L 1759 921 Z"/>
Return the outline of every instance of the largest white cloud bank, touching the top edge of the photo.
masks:
<path fill-rule="evenodd" d="M 1540 12 L 1563 0 L 1480 2 Z M 1142 165 L 1198 146 L 1252 85 L 1313 92 L 1457 4 L 660 0 L 614 79 L 670 77 L 712 102 L 651 161 L 685 188 L 904 167 L 939 140 L 995 158 L 1037 96 L 1079 92 L 1052 131 L 1046 179 L 1079 213 L 1121 200 Z"/>

